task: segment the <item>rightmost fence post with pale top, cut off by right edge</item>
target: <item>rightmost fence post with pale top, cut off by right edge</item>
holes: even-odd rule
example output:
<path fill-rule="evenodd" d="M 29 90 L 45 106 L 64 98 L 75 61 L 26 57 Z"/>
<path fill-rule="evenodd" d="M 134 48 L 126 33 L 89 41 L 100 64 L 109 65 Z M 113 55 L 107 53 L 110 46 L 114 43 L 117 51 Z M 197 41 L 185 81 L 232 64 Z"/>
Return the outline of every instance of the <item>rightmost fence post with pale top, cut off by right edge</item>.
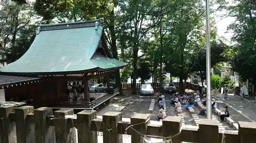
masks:
<path fill-rule="evenodd" d="M 256 123 L 254 122 L 238 122 L 239 123 L 239 136 L 240 143 L 254 143 L 256 134 Z"/>

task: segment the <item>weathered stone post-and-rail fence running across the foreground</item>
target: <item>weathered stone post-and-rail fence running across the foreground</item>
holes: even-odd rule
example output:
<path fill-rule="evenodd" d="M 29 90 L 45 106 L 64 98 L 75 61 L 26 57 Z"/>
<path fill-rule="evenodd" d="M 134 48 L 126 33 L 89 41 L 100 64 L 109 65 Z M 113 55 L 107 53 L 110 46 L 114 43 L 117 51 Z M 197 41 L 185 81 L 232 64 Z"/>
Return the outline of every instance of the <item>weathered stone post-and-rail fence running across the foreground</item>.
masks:
<path fill-rule="evenodd" d="M 74 129 L 77 129 L 78 143 L 96 143 L 97 131 L 103 132 L 103 143 L 119 143 L 122 135 L 131 135 L 131 142 L 141 142 L 145 135 L 163 136 L 172 138 L 174 143 L 198 142 L 217 143 L 221 142 L 225 135 L 226 143 L 254 143 L 256 134 L 256 123 L 239 122 L 238 131 L 222 131 L 218 128 L 216 120 L 201 119 L 199 126 L 182 125 L 181 118 L 173 116 L 166 117 L 161 125 L 150 122 L 150 114 L 135 113 L 130 122 L 122 121 L 121 112 L 107 112 L 102 120 L 97 119 L 94 110 L 83 110 L 74 115 L 73 109 L 60 109 L 57 111 L 49 107 L 33 109 L 33 106 L 15 108 L 13 105 L 0 107 L 1 143 L 31 142 L 29 135 L 34 132 L 36 143 L 75 142 L 72 138 Z M 15 124 L 14 124 L 15 123 Z M 34 125 L 34 131 L 29 130 Z M 128 128 L 130 127 L 130 128 Z M 126 130 L 127 129 L 127 130 Z"/>

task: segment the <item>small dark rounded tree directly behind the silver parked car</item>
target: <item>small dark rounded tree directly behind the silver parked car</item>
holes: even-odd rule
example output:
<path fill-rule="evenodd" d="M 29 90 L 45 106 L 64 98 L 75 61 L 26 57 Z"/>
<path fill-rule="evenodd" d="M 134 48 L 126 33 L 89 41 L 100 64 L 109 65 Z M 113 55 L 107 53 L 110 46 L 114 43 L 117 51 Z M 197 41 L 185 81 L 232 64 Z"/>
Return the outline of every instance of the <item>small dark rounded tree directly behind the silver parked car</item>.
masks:
<path fill-rule="evenodd" d="M 140 77 L 141 83 L 144 83 L 145 80 L 150 79 L 151 77 L 151 70 L 148 63 L 141 62 L 139 63 L 139 68 L 137 69 L 137 76 Z"/>

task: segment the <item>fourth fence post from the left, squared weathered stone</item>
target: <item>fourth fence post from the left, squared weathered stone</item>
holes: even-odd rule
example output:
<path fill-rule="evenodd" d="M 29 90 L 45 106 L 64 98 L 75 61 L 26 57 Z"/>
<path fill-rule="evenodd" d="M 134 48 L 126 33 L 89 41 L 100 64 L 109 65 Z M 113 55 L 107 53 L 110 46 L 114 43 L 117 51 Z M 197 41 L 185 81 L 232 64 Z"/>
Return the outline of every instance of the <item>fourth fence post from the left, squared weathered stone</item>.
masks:
<path fill-rule="evenodd" d="M 54 127 L 56 143 L 75 143 L 75 132 L 71 129 L 71 117 L 74 115 L 74 109 L 60 109 L 54 111 Z"/>

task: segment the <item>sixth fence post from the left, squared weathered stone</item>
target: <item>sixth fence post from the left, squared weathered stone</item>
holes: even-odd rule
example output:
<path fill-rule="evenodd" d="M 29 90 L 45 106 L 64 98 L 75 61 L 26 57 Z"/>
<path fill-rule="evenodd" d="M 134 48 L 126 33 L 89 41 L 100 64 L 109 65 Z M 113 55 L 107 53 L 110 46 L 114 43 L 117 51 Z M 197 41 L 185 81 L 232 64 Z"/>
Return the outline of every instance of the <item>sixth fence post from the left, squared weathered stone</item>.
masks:
<path fill-rule="evenodd" d="M 122 142 L 122 135 L 117 132 L 117 124 L 122 121 L 121 112 L 106 112 L 102 116 L 103 142 L 119 143 Z"/>

